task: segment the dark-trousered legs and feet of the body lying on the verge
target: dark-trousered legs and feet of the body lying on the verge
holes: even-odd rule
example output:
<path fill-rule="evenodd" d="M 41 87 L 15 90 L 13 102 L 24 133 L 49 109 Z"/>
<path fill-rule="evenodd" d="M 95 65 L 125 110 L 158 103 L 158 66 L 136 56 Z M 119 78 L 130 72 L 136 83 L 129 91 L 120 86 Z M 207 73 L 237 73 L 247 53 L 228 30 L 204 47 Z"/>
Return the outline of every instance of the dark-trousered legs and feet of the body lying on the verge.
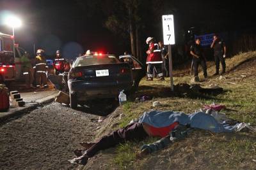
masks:
<path fill-rule="evenodd" d="M 100 150 L 111 148 L 119 143 L 131 140 L 142 140 L 148 137 L 143 125 L 138 122 L 131 123 L 124 128 L 111 132 L 107 136 L 103 136 L 96 143 L 81 143 L 87 150 L 76 150 L 77 158 L 68 160 L 72 164 L 86 164 L 90 157 L 93 157 Z"/>

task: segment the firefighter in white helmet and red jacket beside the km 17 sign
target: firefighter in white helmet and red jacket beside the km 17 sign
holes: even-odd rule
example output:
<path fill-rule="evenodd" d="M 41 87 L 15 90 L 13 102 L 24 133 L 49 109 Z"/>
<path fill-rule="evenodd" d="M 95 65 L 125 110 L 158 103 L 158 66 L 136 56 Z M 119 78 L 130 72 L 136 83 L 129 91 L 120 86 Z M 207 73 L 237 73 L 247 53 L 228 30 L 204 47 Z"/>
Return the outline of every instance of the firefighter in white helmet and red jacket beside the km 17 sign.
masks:
<path fill-rule="evenodd" d="M 148 37 L 146 40 L 146 43 L 149 45 L 149 48 L 147 50 L 147 64 L 148 64 L 148 81 L 153 80 L 153 71 L 154 68 L 156 69 L 156 74 L 159 78 L 159 80 L 164 80 L 164 74 L 161 70 L 161 66 L 163 64 L 163 60 L 161 57 L 161 50 L 159 49 L 159 46 L 157 43 L 154 43 L 154 38 Z"/>

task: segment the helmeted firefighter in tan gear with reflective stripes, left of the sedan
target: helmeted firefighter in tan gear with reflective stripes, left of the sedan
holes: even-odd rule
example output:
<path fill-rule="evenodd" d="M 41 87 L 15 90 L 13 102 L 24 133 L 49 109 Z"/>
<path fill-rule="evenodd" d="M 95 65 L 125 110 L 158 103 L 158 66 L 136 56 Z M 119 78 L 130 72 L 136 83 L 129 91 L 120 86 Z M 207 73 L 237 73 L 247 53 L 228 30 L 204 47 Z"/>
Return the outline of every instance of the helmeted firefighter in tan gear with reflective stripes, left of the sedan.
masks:
<path fill-rule="evenodd" d="M 41 85 L 44 85 L 44 88 L 47 88 L 47 63 L 44 57 L 44 50 L 38 49 L 36 51 L 36 62 L 35 62 L 35 76 L 36 76 L 36 87 L 40 88 Z"/>

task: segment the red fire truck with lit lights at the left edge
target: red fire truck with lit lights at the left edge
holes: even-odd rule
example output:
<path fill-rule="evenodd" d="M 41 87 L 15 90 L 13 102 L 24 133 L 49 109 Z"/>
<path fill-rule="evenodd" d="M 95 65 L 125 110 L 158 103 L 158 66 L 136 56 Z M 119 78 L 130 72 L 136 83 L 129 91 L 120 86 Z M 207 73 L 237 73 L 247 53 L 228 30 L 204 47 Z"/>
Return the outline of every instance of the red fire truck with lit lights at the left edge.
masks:
<path fill-rule="evenodd" d="M 12 35 L 0 32 L 0 83 L 8 85 L 10 81 L 21 78 L 20 57 L 25 50 L 15 45 Z"/>

